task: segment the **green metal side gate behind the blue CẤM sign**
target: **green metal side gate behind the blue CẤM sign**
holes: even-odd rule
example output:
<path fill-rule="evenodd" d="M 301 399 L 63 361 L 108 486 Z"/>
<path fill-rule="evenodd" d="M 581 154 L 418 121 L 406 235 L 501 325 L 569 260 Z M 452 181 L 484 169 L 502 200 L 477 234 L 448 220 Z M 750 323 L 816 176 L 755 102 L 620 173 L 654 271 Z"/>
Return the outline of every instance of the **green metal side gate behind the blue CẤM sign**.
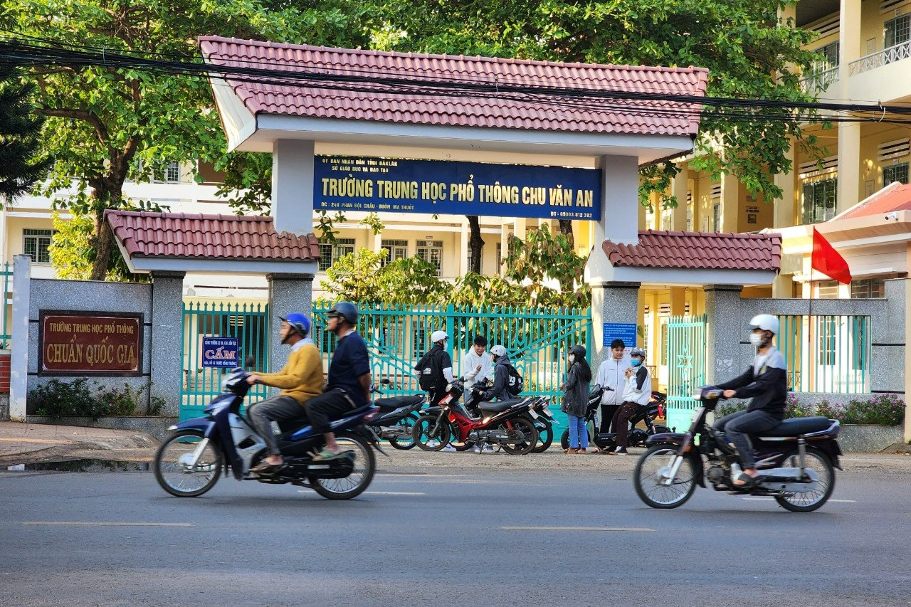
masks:
<path fill-rule="evenodd" d="M 236 337 L 238 360 L 256 360 L 254 368 L 269 368 L 270 322 L 268 304 L 183 304 L 183 383 L 180 419 L 199 417 L 213 396 L 221 392 L 227 368 L 202 366 L 201 345 L 205 336 Z M 268 386 L 253 386 L 250 402 L 269 394 Z"/>

